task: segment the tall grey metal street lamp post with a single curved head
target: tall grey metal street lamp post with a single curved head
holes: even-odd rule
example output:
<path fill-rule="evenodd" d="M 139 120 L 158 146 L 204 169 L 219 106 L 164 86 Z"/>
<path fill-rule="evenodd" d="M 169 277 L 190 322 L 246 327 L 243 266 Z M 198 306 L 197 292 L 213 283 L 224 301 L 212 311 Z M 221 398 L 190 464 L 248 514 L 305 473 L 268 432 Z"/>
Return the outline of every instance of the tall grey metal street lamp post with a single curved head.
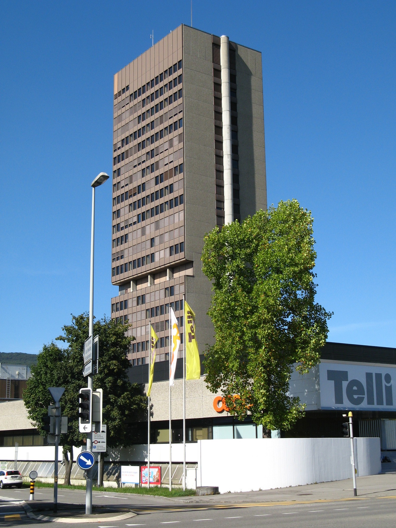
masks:
<path fill-rule="evenodd" d="M 95 189 L 109 179 L 108 174 L 101 172 L 91 183 L 92 187 L 92 218 L 91 218 L 91 272 L 89 281 L 89 337 L 93 335 L 93 247 L 95 232 Z M 93 390 L 93 374 L 88 375 L 88 388 Z M 92 449 L 92 431 L 87 435 L 87 451 Z M 92 514 L 92 468 L 87 470 L 87 491 L 85 500 L 86 515 Z"/>

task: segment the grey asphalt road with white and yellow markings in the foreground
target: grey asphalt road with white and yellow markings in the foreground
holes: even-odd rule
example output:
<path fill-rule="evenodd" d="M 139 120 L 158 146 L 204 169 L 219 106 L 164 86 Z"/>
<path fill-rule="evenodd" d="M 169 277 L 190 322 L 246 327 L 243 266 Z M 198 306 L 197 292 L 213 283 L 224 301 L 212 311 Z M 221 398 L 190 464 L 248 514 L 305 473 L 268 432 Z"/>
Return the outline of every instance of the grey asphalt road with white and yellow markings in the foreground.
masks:
<path fill-rule="evenodd" d="M 36 491 L 36 499 L 52 499 L 52 489 L 41 488 Z M 29 489 L 7 489 L 0 492 L 1 526 L 76 526 L 71 523 L 52 523 L 30 520 L 18 502 L 29 499 Z M 59 490 L 59 502 L 81 504 L 84 492 L 78 490 Z M 124 521 L 93 522 L 80 526 L 98 528 L 118 528 L 126 526 L 146 526 L 147 528 L 166 528 L 176 525 L 188 528 L 208 526 L 209 528 L 301 528 L 334 526 L 342 528 L 394 528 L 396 523 L 396 498 L 366 498 L 360 501 L 342 500 L 334 502 L 312 502 L 307 504 L 275 506 L 233 506 L 227 504 L 179 504 L 158 497 L 124 495 L 116 493 L 93 492 L 94 504 L 118 505 L 136 509 L 138 515 Z"/>

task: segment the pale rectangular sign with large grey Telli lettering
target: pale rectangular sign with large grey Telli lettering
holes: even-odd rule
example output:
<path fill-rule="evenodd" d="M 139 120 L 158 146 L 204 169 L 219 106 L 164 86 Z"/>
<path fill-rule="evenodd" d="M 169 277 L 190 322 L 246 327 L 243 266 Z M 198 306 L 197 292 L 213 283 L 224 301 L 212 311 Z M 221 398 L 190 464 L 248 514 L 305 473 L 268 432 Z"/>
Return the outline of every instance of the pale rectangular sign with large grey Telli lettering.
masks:
<path fill-rule="evenodd" d="M 320 363 L 320 408 L 393 411 L 396 368 Z"/>

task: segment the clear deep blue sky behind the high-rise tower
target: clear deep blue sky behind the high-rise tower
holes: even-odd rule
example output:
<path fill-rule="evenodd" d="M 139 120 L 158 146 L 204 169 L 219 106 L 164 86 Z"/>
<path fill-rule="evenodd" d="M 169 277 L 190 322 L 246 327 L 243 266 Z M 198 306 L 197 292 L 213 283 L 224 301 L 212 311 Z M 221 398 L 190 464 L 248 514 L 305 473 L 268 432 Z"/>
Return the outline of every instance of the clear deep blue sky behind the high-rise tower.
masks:
<path fill-rule="evenodd" d="M 0 4 L 0 351 L 37 352 L 88 310 L 113 74 L 181 23 L 190 0 Z M 396 346 L 396 4 L 195 0 L 193 25 L 262 52 L 268 202 L 313 213 L 328 339 Z M 99 317 L 116 291 L 110 196 L 97 192 Z"/>

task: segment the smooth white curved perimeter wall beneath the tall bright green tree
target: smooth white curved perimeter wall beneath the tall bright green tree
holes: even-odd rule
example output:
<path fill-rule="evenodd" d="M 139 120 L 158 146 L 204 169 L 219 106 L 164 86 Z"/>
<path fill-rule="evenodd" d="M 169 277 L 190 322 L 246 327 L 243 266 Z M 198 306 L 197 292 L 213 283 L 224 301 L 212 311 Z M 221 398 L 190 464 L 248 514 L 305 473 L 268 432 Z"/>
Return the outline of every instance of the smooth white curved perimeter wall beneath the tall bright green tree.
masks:
<path fill-rule="evenodd" d="M 329 482 L 352 477 L 349 438 L 200 440 L 197 486 L 220 493 Z M 356 438 L 358 476 L 381 471 L 379 438 Z"/>

